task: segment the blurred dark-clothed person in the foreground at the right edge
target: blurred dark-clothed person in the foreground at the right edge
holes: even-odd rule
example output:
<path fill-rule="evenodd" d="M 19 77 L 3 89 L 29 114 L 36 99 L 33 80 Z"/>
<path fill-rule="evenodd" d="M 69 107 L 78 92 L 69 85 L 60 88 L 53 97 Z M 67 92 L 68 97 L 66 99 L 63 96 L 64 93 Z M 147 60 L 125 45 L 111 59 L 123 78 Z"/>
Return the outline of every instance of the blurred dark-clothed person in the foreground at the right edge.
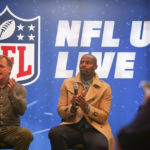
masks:
<path fill-rule="evenodd" d="M 144 85 L 144 103 L 135 119 L 122 128 L 117 136 L 117 150 L 149 150 L 150 143 L 150 83 Z"/>

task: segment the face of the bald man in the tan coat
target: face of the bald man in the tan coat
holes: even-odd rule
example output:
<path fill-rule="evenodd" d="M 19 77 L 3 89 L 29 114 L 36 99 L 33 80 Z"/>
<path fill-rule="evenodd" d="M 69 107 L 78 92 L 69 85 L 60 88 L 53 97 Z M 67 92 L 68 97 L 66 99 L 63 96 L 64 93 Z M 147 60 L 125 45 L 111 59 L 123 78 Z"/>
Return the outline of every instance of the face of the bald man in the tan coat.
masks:
<path fill-rule="evenodd" d="M 79 68 L 81 75 L 91 76 L 94 74 L 97 65 L 95 64 L 92 56 L 85 55 L 81 58 Z"/>

